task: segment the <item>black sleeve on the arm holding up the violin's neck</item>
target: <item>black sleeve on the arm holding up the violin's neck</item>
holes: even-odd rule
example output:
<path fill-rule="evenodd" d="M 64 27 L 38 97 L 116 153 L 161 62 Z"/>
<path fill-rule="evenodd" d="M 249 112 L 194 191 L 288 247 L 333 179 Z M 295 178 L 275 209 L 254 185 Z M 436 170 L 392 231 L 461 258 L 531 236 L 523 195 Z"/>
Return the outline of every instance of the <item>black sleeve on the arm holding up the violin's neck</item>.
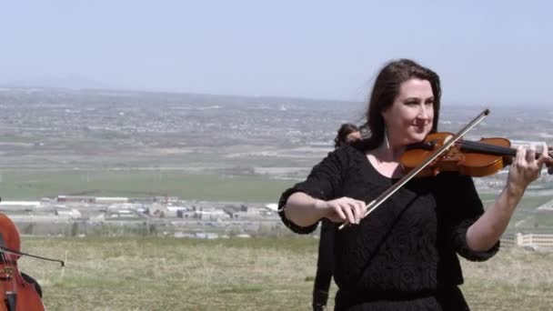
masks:
<path fill-rule="evenodd" d="M 468 247 L 467 231 L 482 214 L 484 206 L 478 196 L 472 177 L 453 175 L 447 178 L 444 213 L 449 214 L 449 241 L 458 255 L 471 261 L 485 261 L 496 255 L 499 241 L 487 251 L 476 252 Z"/>

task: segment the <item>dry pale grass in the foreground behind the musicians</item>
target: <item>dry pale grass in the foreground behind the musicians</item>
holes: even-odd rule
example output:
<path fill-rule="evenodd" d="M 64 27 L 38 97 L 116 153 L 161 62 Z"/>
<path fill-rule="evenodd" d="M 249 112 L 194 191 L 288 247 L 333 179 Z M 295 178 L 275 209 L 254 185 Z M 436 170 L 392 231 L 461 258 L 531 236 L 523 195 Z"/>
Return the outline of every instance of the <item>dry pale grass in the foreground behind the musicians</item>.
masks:
<path fill-rule="evenodd" d="M 23 251 L 66 256 L 64 269 L 19 260 L 43 286 L 49 310 L 308 310 L 317 258 L 317 239 L 297 236 L 22 240 Z M 552 261 L 553 253 L 519 248 L 463 261 L 462 290 L 474 310 L 550 310 Z"/>

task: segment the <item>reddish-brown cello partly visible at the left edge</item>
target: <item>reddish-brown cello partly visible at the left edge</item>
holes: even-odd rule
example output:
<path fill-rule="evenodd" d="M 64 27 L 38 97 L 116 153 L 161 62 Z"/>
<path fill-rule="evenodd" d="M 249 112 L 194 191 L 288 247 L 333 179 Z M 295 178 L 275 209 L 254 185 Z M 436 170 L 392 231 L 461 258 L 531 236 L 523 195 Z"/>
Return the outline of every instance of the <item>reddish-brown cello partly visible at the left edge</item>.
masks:
<path fill-rule="evenodd" d="M 17 227 L 0 213 L 0 311 L 44 310 L 35 286 L 25 281 L 17 269 L 20 247 Z"/>

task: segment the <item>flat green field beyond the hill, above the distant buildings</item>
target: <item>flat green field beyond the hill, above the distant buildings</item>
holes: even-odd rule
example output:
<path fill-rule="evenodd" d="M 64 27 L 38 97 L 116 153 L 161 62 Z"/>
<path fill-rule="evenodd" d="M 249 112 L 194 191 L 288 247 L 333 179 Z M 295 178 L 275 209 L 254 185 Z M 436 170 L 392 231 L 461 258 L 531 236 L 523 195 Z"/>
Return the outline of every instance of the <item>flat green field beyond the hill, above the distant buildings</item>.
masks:
<path fill-rule="evenodd" d="M 179 196 L 183 199 L 275 202 L 294 182 L 268 176 L 216 176 L 179 170 L 4 171 L 3 200 L 43 196 Z"/>

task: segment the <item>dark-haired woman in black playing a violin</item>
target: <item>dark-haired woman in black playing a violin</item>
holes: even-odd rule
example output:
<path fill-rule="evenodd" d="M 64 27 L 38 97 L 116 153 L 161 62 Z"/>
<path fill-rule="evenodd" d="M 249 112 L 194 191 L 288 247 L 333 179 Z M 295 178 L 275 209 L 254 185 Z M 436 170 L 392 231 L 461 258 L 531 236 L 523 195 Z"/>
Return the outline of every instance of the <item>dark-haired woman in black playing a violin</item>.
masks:
<path fill-rule="evenodd" d="M 337 148 L 307 180 L 279 201 L 286 226 L 308 234 L 327 218 L 350 224 L 336 230 L 336 310 L 468 310 L 457 255 L 483 261 L 498 252 L 527 186 L 544 162 L 534 147 L 519 147 L 506 186 L 486 211 L 470 176 L 444 172 L 411 179 L 365 217 L 366 205 L 406 173 L 407 145 L 437 131 L 439 77 L 401 59 L 385 65 L 368 101 L 371 135 Z"/>

